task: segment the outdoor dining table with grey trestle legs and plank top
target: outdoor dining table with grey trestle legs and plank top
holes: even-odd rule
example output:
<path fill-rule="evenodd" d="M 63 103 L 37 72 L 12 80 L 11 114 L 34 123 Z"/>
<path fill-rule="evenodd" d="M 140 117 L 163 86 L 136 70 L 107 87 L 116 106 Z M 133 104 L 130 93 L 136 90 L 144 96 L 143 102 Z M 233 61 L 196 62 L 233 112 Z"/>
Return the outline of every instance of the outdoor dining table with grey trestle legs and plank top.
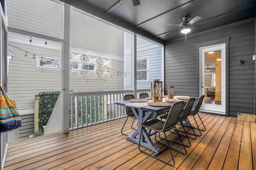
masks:
<path fill-rule="evenodd" d="M 163 98 L 163 101 L 165 99 L 167 99 L 167 98 Z M 148 101 L 152 102 L 150 100 L 148 100 Z M 184 100 L 184 105 L 186 104 L 186 102 L 187 102 L 187 100 Z M 158 113 L 165 111 L 165 110 L 167 112 L 169 112 L 169 110 L 170 110 L 172 104 L 174 104 L 174 102 L 166 102 L 166 103 L 170 104 L 170 106 L 167 106 L 167 107 L 148 106 L 148 102 L 137 103 L 137 102 L 130 102 L 129 100 L 115 102 L 115 104 L 130 107 L 138 120 L 137 130 L 135 130 L 135 132 L 131 136 L 126 137 L 126 139 L 130 140 L 136 144 L 139 144 L 139 137 L 137 137 L 137 136 L 140 136 L 140 132 L 141 132 L 141 128 L 142 128 L 140 126 L 140 124 L 143 122 L 146 122 L 146 120 L 148 120 L 149 116 L 152 113 L 154 114 L 153 119 L 155 119 L 157 117 Z M 155 133 L 156 133 L 155 131 L 151 131 L 149 129 L 147 129 L 147 133 L 142 131 L 142 140 L 140 142 L 140 145 L 152 150 L 153 152 L 160 153 L 161 149 L 158 148 L 158 146 L 156 146 L 150 138 L 150 136 L 154 135 Z"/>

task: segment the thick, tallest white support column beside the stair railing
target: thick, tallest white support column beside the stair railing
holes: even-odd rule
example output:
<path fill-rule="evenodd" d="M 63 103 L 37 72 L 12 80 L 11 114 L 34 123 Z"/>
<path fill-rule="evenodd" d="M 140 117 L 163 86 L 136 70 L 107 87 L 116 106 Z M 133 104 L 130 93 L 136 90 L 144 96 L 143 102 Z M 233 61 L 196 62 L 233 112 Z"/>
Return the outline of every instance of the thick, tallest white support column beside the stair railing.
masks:
<path fill-rule="evenodd" d="M 62 89 L 62 133 L 69 132 L 69 49 L 70 49 L 70 5 L 64 5 L 64 27 L 61 60 Z"/>

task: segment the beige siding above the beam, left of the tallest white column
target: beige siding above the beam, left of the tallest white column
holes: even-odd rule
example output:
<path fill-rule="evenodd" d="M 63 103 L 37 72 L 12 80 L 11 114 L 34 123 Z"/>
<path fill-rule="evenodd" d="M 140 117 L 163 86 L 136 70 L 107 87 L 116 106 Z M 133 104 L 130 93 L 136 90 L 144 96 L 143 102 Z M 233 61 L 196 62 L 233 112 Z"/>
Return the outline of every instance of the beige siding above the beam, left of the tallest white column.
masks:
<path fill-rule="evenodd" d="M 62 10 L 50 0 L 8 0 L 8 27 L 62 38 Z"/>

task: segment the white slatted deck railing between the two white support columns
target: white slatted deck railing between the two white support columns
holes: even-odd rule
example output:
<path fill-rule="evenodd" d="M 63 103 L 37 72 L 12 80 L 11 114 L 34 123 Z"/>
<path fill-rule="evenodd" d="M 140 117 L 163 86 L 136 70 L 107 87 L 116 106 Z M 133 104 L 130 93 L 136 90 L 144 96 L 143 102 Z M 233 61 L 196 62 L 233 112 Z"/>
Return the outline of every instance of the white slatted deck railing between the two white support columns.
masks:
<path fill-rule="evenodd" d="M 123 118 L 124 106 L 116 105 L 133 90 L 70 92 L 70 130 Z"/>

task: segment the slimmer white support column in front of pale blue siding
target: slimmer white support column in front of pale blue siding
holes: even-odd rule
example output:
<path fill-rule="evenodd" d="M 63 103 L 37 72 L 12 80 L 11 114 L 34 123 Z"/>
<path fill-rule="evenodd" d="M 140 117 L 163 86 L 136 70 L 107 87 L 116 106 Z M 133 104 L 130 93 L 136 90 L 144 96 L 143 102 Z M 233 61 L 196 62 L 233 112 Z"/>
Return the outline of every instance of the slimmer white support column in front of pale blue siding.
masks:
<path fill-rule="evenodd" d="M 137 98 L 137 34 L 132 33 L 132 90 Z"/>

